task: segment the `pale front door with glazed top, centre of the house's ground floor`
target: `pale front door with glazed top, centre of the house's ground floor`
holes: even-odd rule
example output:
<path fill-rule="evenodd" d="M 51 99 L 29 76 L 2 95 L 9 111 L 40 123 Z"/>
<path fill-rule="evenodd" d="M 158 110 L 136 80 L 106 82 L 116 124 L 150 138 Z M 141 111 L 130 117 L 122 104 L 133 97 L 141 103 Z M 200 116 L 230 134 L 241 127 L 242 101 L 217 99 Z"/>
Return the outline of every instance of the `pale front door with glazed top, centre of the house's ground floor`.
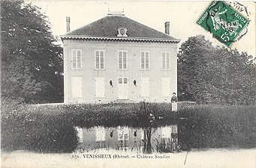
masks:
<path fill-rule="evenodd" d="M 128 99 L 128 78 L 118 78 L 118 99 Z"/>

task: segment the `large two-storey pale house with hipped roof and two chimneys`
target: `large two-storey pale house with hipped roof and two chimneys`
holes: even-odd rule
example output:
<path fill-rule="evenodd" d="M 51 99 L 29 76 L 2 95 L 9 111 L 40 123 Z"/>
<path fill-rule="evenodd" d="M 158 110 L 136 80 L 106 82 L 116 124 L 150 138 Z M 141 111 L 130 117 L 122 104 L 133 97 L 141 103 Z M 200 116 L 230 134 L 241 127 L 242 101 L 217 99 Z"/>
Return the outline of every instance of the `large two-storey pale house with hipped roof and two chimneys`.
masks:
<path fill-rule="evenodd" d="M 164 24 L 163 24 L 164 25 Z M 109 13 L 61 36 L 64 102 L 170 102 L 177 92 L 177 40 L 126 17 Z"/>

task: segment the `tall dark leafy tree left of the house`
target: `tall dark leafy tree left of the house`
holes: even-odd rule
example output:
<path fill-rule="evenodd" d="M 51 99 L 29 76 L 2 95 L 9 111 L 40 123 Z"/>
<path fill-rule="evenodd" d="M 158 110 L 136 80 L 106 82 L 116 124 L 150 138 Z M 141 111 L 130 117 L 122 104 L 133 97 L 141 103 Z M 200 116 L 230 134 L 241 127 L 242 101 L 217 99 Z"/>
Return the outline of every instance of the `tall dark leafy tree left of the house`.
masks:
<path fill-rule="evenodd" d="M 38 7 L 1 1 L 2 100 L 62 102 L 62 48 Z"/>

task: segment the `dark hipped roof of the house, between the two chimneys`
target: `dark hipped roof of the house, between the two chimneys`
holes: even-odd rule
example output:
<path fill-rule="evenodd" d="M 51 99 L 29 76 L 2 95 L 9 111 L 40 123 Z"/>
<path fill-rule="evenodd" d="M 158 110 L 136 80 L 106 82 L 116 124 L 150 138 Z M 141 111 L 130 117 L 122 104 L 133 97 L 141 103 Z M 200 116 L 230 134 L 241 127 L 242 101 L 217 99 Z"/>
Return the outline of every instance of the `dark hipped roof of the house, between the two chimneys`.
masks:
<path fill-rule="evenodd" d="M 117 37 L 118 28 L 125 27 L 127 28 L 128 37 Z M 68 37 L 94 37 L 101 39 L 141 39 L 141 40 L 164 40 L 164 41 L 176 41 L 179 43 L 179 40 L 174 37 L 170 37 L 167 34 L 156 31 L 153 28 L 149 28 L 146 25 L 143 25 L 139 22 L 136 22 L 132 19 L 129 19 L 125 16 L 120 15 L 108 15 L 98 21 L 92 22 L 89 25 L 85 25 L 81 28 L 78 28 L 74 31 L 70 31 L 62 38 Z"/>

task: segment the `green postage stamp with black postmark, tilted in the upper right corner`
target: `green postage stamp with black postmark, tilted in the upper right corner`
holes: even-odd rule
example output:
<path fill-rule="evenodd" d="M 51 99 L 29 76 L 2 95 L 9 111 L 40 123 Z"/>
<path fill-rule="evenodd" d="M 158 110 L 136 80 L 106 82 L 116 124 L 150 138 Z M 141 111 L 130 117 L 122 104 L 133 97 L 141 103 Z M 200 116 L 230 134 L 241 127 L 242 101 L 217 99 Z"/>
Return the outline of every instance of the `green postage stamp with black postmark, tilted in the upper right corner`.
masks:
<path fill-rule="evenodd" d="M 198 25 L 228 47 L 246 33 L 243 29 L 248 22 L 245 16 L 224 1 L 212 1 L 197 19 Z"/>

